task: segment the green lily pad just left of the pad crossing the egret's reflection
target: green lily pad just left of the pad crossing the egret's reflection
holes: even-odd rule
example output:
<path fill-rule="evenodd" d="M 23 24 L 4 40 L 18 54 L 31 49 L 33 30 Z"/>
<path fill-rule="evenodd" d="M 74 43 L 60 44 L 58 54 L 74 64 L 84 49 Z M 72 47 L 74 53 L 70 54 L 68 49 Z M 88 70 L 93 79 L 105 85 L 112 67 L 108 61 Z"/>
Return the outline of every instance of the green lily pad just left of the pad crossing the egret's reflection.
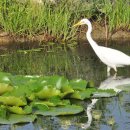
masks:
<path fill-rule="evenodd" d="M 74 99 L 84 100 L 90 98 L 93 92 L 95 91 L 96 91 L 95 88 L 88 88 L 85 91 L 75 91 L 70 97 Z"/>

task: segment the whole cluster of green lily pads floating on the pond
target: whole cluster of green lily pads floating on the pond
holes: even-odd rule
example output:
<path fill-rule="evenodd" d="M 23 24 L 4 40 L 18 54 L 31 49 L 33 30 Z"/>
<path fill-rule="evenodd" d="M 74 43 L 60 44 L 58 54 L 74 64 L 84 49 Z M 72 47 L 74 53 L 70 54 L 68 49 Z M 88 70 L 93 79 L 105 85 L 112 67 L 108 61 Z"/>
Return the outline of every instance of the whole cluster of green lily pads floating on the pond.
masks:
<path fill-rule="evenodd" d="M 114 90 L 96 89 L 92 81 L 68 80 L 62 76 L 22 76 L 0 72 L 0 83 L 3 84 L 0 124 L 34 121 L 36 115 L 74 115 L 84 108 L 71 103 L 72 99 L 89 99 L 94 92 L 116 95 Z M 11 89 L 8 90 L 7 86 Z"/>

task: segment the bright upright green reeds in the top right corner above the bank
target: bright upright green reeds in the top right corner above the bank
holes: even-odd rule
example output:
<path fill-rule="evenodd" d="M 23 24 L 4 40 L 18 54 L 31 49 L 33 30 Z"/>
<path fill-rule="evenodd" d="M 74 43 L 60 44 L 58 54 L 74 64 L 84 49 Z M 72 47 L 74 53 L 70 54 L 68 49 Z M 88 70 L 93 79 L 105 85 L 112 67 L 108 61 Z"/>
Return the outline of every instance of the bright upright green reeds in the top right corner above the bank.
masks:
<path fill-rule="evenodd" d="M 112 11 L 108 14 L 110 31 L 114 29 L 130 29 L 130 2 L 129 0 L 115 0 Z"/>

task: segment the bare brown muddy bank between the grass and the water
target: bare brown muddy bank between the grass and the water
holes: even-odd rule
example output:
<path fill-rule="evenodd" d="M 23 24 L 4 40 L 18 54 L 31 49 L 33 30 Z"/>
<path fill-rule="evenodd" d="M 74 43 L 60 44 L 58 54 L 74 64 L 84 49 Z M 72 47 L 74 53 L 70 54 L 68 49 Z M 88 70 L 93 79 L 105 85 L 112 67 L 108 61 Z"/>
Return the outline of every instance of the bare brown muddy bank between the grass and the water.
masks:
<path fill-rule="evenodd" d="M 78 35 L 80 40 L 86 40 L 87 28 L 81 27 Z M 95 40 L 106 40 L 106 29 L 104 26 L 101 26 L 97 23 L 93 24 L 92 37 Z M 129 40 L 130 39 L 130 31 L 118 30 L 113 34 L 108 34 L 108 40 Z M 13 36 L 7 32 L 0 31 L 0 45 L 7 45 L 12 42 L 47 42 L 47 41 L 55 41 L 55 38 L 52 36 L 48 36 L 47 34 L 40 34 L 31 37 L 27 36 Z"/>

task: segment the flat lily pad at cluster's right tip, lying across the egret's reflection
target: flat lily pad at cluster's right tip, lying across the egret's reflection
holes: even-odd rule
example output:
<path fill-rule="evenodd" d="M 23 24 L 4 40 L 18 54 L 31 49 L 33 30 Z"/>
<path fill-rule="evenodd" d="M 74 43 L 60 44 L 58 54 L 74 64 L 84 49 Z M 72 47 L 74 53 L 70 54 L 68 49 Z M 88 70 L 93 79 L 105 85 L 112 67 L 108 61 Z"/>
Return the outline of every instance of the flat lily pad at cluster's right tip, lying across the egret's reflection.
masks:
<path fill-rule="evenodd" d="M 117 92 L 115 92 L 113 89 L 106 89 L 106 90 L 98 89 L 97 91 L 93 92 L 92 97 L 94 97 L 94 98 L 113 97 L 116 95 L 117 95 Z"/>

